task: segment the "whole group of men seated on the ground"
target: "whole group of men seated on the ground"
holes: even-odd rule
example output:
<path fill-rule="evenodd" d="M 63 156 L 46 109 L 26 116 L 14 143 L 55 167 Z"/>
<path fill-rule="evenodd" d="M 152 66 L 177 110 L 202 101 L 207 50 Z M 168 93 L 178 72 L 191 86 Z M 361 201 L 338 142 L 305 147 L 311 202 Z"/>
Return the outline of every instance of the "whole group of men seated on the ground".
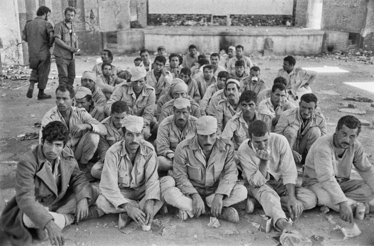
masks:
<path fill-rule="evenodd" d="M 181 220 L 209 214 L 238 222 L 231 205 L 246 199 L 247 213 L 262 206 L 281 231 L 288 217 L 316 205 L 349 222 L 358 202 L 374 211 L 374 167 L 357 141 L 360 121 L 343 116 L 326 134 L 310 93 L 314 72 L 295 68 L 288 56 L 266 89 L 240 45 L 226 61 L 213 53 L 210 64 L 191 45 L 183 61 L 170 55 L 169 68 L 159 48 L 153 62 L 140 51 L 130 75 L 104 50 L 81 86 L 57 87 L 56 107 L 42 119 L 39 145 L 19 161 L 16 196 L 0 218 L 13 243 L 46 230 L 52 245 L 63 245 L 64 227 L 107 213 L 119 213 L 119 229 L 151 225 L 155 213 L 168 213 L 164 203 Z M 83 172 L 93 160 L 100 192 Z M 296 164 L 304 164 L 302 186 Z M 352 165 L 362 180 L 350 179 Z"/>

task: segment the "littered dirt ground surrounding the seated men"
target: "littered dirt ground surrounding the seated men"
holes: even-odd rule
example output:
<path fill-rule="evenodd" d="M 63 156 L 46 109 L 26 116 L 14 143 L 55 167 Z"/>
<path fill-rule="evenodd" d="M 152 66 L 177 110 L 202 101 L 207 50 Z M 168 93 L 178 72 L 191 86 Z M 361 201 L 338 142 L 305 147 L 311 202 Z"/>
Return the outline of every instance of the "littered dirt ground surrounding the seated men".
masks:
<path fill-rule="evenodd" d="M 82 75 L 85 70 L 91 70 L 95 65 L 97 57 L 78 56 L 76 58 L 76 74 Z M 114 65 L 121 68 L 133 66 L 135 55 L 117 56 Z M 364 65 L 351 60 L 345 61 L 333 59 L 333 57 L 296 57 L 296 66 L 300 67 L 323 67 L 339 66 L 348 70 L 349 73 L 320 73 L 318 79 L 311 85 L 313 92 L 319 99 L 319 107 L 327 121 L 327 131 L 335 131 L 338 119 L 345 113 L 338 112 L 342 108 L 342 97 L 361 96 L 374 99 L 374 95 L 366 90 L 358 89 L 343 82 L 373 82 L 374 65 Z M 273 79 L 282 66 L 282 57 L 254 57 L 253 61 L 261 68 L 261 78 L 270 87 Z M 51 76 L 57 77 L 56 65 L 53 62 Z M 79 82 L 80 79 L 76 79 Z M 58 84 L 56 79 L 50 80 L 46 92 L 54 96 L 54 90 Z M 37 89 L 34 90 L 34 98 L 26 98 L 28 82 L 10 81 L 0 82 L 0 211 L 3 210 L 5 201 L 14 196 L 15 173 L 19 156 L 37 145 L 38 140 L 21 141 L 20 134 L 38 132 L 39 128 L 34 123 L 41 120 L 43 115 L 54 107 L 54 100 L 38 101 L 36 99 Z M 325 95 L 321 91 L 334 91 L 337 95 Z M 374 154 L 374 108 L 370 103 L 355 102 L 357 109 L 366 110 L 365 115 L 356 115 L 365 119 L 371 126 L 364 126 L 358 140 L 362 143 L 366 153 L 373 163 Z M 354 172 L 354 171 L 353 171 Z M 299 177 L 300 181 L 300 177 Z M 98 185 L 98 182 L 94 182 Z M 67 245 L 277 245 L 272 237 L 280 235 L 280 232 L 272 229 L 270 233 L 264 233 L 256 226 L 261 222 L 264 214 L 262 209 L 256 209 L 253 214 L 244 212 L 244 202 L 237 205 L 240 215 L 238 224 L 220 220 L 221 227 L 209 228 L 209 217 L 187 219 L 179 222 L 176 216 L 177 210 L 169 207 L 166 215 L 156 215 L 158 223 L 165 227 L 164 235 L 154 234 L 151 231 L 143 232 L 140 229 L 127 227 L 124 231 L 117 228 L 118 215 L 110 214 L 99 219 L 80 222 L 79 225 L 70 225 L 63 230 Z M 331 215 L 328 220 L 326 216 Z M 331 216 L 329 218 L 331 218 Z M 374 215 L 373 215 L 374 216 Z M 355 238 L 343 239 L 340 230 L 335 230 L 337 225 L 348 226 L 339 218 L 339 213 L 320 213 L 319 208 L 305 211 L 293 228 L 308 238 L 313 239 L 314 245 L 374 245 L 374 218 L 367 217 L 355 223 L 362 231 Z M 174 232 L 175 230 L 175 232 Z M 153 231 L 155 232 L 155 231 Z M 318 240 L 316 240 L 316 238 Z M 35 242 L 36 245 L 48 245 L 48 241 Z M 4 233 L 0 232 L 0 245 L 9 245 Z"/>

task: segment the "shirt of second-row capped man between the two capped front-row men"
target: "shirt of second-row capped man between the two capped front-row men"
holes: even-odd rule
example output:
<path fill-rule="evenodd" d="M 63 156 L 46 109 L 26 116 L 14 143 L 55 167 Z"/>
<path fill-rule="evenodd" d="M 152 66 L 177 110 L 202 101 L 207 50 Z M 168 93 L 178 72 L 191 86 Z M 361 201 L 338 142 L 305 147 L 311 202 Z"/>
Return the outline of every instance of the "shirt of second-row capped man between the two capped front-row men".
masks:
<path fill-rule="evenodd" d="M 196 117 L 190 115 L 185 128 L 181 132 L 175 125 L 174 115 L 166 117 L 157 131 L 157 155 L 166 157 L 169 153 L 174 153 L 180 142 L 195 135 L 196 120 Z"/>

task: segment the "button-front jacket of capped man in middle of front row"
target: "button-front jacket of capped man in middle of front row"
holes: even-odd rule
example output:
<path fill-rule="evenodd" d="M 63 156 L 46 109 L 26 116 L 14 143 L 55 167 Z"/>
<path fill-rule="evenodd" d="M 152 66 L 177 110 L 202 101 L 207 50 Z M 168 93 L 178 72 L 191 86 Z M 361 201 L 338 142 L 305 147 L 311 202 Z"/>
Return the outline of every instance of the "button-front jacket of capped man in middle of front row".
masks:
<path fill-rule="evenodd" d="M 197 135 L 183 140 L 175 149 L 173 178 L 183 194 L 217 187 L 216 194 L 230 196 L 238 180 L 232 143 L 217 137 L 206 162 Z"/>

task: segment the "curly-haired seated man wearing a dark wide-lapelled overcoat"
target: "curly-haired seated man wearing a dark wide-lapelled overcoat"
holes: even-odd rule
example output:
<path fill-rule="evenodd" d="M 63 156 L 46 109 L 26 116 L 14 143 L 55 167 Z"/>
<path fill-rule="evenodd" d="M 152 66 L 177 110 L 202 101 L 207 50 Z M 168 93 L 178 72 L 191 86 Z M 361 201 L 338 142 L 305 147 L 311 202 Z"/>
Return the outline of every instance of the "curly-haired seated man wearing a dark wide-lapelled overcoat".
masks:
<path fill-rule="evenodd" d="M 61 230 L 74 222 L 74 216 L 76 222 L 94 217 L 89 206 L 99 191 L 79 170 L 71 149 L 64 148 L 68 141 L 65 124 L 51 121 L 42 127 L 40 144 L 17 164 L 16 196 L 0 218 L 12 245 L 31 245 L 33 236 L 43 240 L 47 230 L 51 245 L 62 246 Z"/>

